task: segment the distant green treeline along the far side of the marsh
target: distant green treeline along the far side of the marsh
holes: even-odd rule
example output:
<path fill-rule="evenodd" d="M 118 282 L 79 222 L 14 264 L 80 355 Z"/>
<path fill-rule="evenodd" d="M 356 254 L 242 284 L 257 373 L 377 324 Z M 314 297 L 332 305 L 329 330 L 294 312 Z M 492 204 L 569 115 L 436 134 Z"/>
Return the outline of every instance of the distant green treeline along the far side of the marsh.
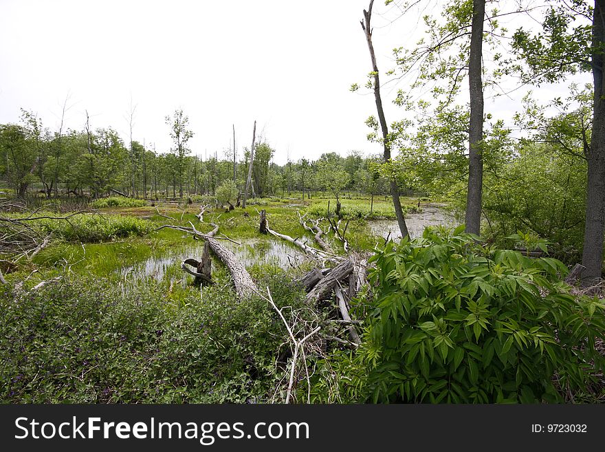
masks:
<path fill-rule="evenodd" d="M 179 119 L 181 126 L 184 119 Z M 177 198 L 215 195 L 226 181 L 243 191 L 250 150 L 244 149 L 241 159 L 234 158 L 232 150 L 213 152 L 208 158 L 191 155 L 182 143 L 184 130 L 181 127 L 180 141 L 175 140 L 172 150 L 160 152 L 136 140 L 124 143 L 111 127 L 50 131 L 40 118 L 23 110 L 18 124 L 0 125 L 0 177 L 19 197 L 36 193 L 98 198 L 117 192 L 146 199 Z M 256 143 L 251 190 L 256 196 L 311 197 L 329 191 L 338 197 L 345 190 L 369 195 L 388 190 L 379 173 L 380 159 L 359 151 L 347 157 L 325 153 L 318 160 L 303 158 L 285 165 L 272 162 L 275 154 L 264 140 Z"/>

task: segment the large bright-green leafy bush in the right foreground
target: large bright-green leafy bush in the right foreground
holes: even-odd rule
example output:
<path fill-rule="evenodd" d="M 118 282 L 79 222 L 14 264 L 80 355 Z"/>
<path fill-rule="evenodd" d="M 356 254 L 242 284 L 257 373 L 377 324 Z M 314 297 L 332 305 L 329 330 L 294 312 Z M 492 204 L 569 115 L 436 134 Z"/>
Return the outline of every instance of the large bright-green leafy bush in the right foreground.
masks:
<path fill-rule="evenodd" d="M 364 343 L 324 363 L 316 400 L 561 402 L 593 381 L 604 367 L 603 302 L 569 294 L 560 261 L 475 238 L 427 228 L 376 252 Z M 347 373 L 337 391 L 320 381 L 328 367 Z"/>

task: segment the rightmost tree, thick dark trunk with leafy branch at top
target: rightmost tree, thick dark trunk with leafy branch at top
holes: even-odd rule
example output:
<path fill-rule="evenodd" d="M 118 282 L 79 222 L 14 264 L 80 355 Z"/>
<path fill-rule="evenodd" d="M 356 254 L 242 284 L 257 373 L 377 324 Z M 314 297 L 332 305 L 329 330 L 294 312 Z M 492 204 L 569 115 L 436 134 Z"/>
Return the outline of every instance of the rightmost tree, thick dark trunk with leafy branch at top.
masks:
<path fill-rule="evenodd" d="M 577 25 L 577 19 L 584 19 Z M 561 1 L 544 15 L 543 32 L 532 35 L 520 28 L 514 49 L 527 63 L 525 80 L 553 82 L 566 74 L 593 74 L 593 127 L 586 160 L 586 214 L 582 250 L 582 284 L 592 286 L 602 275 L 605 233 L 605 0 L 591 8 L 585 0 Z"/>

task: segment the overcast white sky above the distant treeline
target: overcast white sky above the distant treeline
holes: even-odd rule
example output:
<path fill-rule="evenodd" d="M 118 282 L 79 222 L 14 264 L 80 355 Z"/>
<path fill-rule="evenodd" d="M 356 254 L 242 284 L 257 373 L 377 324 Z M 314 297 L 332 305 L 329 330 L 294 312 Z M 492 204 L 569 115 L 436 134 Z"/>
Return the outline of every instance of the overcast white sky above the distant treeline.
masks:
<path fill-rule="evenodd" d="M 360 26 L 368 0 L 34 1 L 0 0 L 0 123 L 19 108 L 56 129 L 113 127 L 128 140 L 170 147 L 164 120 L 189 116 L 190 148 L 202 158 L 230 147 L 239 155 L 252 125 L 276 149 L 274 161 L 318 158 L 326 151 L 380 152 L 366 140 L 371 94 L 353 94 L 371 70 Z M 415 42 L 417 16 L 375 2 L 379 67 L 395 45 Z M 397 119 L 386 90 L 387 120 Z M 501 102 L 501 101 L 500 101 Z M 486 105 L 487 107 L 487 105 Z M 507 108 L 503 105 L 504 108 Z M 487 109 L 487 108 L 486 108 Z"/>

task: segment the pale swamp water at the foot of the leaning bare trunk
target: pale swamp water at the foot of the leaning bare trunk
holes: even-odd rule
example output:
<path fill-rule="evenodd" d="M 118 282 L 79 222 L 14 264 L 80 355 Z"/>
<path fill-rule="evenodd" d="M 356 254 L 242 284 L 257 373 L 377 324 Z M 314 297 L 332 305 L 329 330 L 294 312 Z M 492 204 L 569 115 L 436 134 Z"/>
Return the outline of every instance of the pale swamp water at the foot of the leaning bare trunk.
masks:
<path fill-rule="evenodd" d="M 406 214 L 406 225 L 412 239 L 422 237 L 426 226 L 448 226 L 454 227 L 458 223 L 456 219 L 449 213 L 443 211 L 439 206 L 428 205 L 422 206 L 420 213 Z M 376 219 L 368 222 L 368 226 L 377 237 L 387 237 L 391 239 L 400 239 L 401 232 L 396 219 Z"/>

